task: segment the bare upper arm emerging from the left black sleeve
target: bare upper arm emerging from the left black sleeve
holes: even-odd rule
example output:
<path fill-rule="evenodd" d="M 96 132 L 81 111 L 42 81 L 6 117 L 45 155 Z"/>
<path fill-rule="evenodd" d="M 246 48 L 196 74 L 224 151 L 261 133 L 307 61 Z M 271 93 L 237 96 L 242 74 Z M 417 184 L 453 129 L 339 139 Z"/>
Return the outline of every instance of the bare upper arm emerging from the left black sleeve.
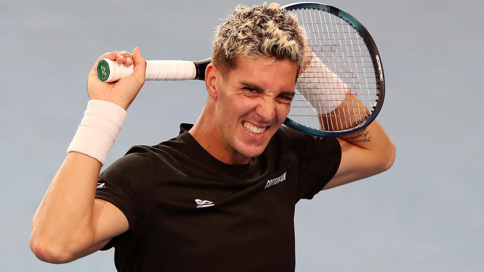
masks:
<path fill-rule="evenodd" d="M 112 203 L 95 198 L 92 213 L 93 241 L 91 246 L 80 252 L 80 257 L 103 248 L 112 238 L 128 231 L 126 216 Z"/>

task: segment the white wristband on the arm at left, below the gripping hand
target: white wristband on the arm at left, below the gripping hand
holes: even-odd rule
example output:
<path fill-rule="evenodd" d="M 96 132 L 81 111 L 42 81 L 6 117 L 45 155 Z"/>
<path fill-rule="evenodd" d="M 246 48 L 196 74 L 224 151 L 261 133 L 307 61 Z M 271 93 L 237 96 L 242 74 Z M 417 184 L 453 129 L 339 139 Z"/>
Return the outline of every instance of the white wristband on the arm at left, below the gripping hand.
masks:
<path fill-rule="evenodd" d="M 127 115 L 124 108 L 114 103 L 89 100 L 84 118 L 67 152 L 85 154 L 104 165 Z"/>

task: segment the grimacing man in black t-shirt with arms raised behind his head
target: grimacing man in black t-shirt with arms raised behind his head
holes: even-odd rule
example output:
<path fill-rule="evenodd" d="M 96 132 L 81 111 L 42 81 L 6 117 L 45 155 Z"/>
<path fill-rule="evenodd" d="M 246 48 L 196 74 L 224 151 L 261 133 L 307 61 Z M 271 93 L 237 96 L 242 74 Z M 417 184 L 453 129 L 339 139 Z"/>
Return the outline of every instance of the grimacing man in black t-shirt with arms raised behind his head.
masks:
<path fill-rule="evenodd" d="M 353 143 L 280 127 L 305 46 L 279 5 L 239 7 L 218 28 L 197 122 L 99 174 L 146 69 L 138 48 L 102 55 L 134 73 L 106 84 L 94 65 L 85 117 L 34 217 L 35 255 L 64 263 L 114 246 L 121 271 L 294 270 L 295 203 L 394 158 L 378 121 Z"/>

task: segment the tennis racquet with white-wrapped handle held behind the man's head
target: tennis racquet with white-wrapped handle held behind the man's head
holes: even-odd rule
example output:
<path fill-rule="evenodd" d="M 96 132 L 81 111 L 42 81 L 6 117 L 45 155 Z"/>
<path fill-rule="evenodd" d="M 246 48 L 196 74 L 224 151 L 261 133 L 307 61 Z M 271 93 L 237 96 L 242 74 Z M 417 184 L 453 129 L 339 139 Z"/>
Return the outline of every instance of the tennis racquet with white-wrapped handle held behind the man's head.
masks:
<path fill-rule="evenodd" d="M 338 8 L 314 3 L 284 6 L 306 29 L 308 52 L 284 121 L 290 128 L 316 136 L 341 137 L 368 126 L 385 96 L 383 66 L 368 30 Z M 210 58 L 200 61 L 148 60 L 146 80 L 204 80 Z M 110 59 L 97 65 L 101 81 L 133 73 Z"/>

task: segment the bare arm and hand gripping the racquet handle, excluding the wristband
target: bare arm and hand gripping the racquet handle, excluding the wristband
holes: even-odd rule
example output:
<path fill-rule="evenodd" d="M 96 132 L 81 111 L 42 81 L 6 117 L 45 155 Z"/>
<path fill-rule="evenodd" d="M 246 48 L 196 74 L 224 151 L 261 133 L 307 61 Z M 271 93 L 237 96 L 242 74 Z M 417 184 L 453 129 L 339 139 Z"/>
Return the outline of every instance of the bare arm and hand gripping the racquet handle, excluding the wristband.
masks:
<path fill-rule="evenodd" d="M 133 75 L 118 82 L 100 82 L 96 66 L 105 57 L 126 65 L 134 62 Z M 126 110 L 144 84 L 145 67 L 138 48 L 133 55 L 118 51 L 102 55 L 89 73 L 89 97 L 114 103 L 117 106 L 109 105 L 117 107 L 115 110 Z M 68 153 L 32 222 L 30 248 L 37 258 L 52 263 L 70 262 L 99 250 L 112 237 L 128 230 L 128 220 L 119 209 L 95 199 L 100 169 L 99 158 L 75 151 Z"/>

